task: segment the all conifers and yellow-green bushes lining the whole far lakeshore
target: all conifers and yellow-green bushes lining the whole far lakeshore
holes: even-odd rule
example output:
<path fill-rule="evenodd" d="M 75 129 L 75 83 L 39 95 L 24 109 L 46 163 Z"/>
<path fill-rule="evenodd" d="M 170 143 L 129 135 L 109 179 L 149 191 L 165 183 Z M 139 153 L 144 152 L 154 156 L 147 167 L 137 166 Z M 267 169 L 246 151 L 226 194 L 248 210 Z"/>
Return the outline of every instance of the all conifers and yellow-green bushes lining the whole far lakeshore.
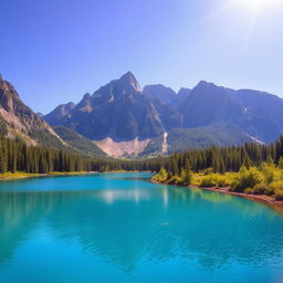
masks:
<path fill-rule="evenodd" d="M 283 200 L 283 136 L 270 145 L 209 147 L 148 159 L 91 158 L 66 150 L 27 146 L 0 136 L 0 177 L 90 171 L 153 171 L 169 185 L 228 188 Z"/>

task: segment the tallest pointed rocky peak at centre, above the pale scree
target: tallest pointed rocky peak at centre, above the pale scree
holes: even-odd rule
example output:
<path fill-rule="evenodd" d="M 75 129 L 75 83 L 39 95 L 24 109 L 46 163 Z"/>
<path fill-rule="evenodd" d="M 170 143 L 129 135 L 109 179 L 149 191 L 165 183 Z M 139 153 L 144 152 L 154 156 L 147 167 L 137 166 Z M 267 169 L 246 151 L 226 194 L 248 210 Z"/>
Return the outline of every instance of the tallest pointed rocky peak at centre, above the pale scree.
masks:
<path fill-rule="evenodd" d="M 60 119 L 60 115 L 54 115 L 57 112 L 46 115 L 45 120 L 70 127 L 93 140 L 144 140 L 163 133 L 158 112 L 132 73 L 112 81 L 93 95 L 86 94 Z"/>

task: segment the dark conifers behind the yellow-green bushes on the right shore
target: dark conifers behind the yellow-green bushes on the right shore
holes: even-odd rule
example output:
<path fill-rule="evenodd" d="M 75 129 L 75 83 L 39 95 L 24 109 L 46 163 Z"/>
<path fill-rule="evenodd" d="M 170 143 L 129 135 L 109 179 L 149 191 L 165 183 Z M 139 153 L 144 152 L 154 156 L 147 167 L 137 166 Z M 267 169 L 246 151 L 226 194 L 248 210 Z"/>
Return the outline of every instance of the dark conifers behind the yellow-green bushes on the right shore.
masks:
<path fill-rule="evenodd" d="M 260 166 L 266 160 L 275 165 L 282 161 L 283 136 L 270 145 L 245 143 L 240 146 L 192 149 L 175 153 L 167 158 L 159 159 L 159 165 L 169 174 L 179 176 L 182 168 L 200 171 L 211 168 L 213 172 L 239 171 L 242 166 Z"/>

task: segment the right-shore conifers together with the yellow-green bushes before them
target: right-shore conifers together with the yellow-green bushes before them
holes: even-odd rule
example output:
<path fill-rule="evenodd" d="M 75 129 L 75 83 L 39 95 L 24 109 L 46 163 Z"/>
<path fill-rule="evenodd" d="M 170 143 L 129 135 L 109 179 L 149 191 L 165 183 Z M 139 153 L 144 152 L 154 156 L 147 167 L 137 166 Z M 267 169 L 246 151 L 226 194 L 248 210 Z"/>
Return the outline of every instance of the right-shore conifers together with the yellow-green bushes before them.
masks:
<path fill-rule="evenodd" d="M 244 144 L 238 147 L 210 147 L 174 154 L 154 181 L 227 188 L 227 191 L 265 195 L 283 200 L 283 137 L 271 145 Z"/>

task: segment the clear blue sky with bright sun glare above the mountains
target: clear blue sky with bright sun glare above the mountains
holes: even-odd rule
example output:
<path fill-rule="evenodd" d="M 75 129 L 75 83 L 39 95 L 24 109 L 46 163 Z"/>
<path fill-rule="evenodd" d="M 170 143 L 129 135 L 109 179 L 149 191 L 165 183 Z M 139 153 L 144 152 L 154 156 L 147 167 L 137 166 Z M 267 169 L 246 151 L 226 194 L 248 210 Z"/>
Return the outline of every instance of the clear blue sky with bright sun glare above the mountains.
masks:
<path fill-rule="evenodd" d="M 206 80 L 283 95 L 281 2 L 1 0 L 0 73 L 44 114 L 127 71 L 142 86 Z"/>

